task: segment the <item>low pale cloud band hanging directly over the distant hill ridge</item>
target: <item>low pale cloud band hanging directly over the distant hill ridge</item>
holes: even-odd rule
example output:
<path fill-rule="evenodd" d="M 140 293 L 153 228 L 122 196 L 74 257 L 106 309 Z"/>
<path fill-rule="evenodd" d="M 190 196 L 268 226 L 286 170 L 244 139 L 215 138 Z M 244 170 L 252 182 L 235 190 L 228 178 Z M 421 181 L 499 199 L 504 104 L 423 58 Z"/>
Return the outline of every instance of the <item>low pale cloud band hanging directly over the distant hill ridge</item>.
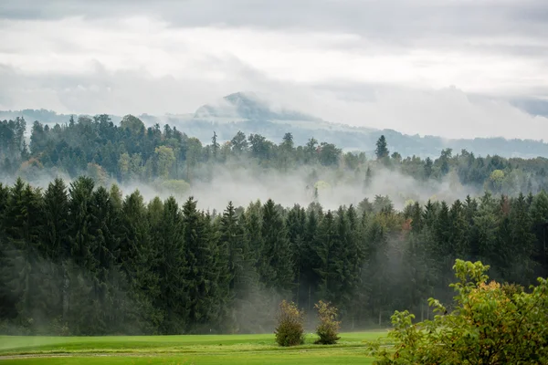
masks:
<path fill-rule="evenodd" d="M 0 109 L 12 105 L 12 109 L 30 106 L 90 114 L 192 113 L 206 102 L 243 89 L 258 91 L 275 106 L 353 126 L 446 138 L 502 136 L 548 140 L 548 119 L 533 117 L 507 100 L 470 96 L 455 88 L 306 86 L 271 79 L 237 60 L 218 62 L 216 67 L 232 73 L 233 78 L 151 78 L 140 71 L 110 72 L 100 66 L 85 76 L 30 77 L 4 68 L 0 78 L 12 87 L 0 90 Z"/>

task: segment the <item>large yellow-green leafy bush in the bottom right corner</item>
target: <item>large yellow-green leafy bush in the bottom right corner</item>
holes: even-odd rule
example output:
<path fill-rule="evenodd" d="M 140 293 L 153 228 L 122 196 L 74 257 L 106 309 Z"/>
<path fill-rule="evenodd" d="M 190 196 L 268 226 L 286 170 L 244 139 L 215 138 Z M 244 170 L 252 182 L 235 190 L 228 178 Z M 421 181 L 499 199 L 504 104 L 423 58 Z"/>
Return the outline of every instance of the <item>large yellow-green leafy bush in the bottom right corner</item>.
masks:
<path fill-rule="evenodd" d="M 409 312 L 392 316 L 395 350 L 383 350 L 377 364 L 546 364 L 548 280 L 526 293 L 491 281 L 480 262 L 457 260 L 456 308 L 448 313 L 436 299 L 434 320 L 413 324 Z"/>

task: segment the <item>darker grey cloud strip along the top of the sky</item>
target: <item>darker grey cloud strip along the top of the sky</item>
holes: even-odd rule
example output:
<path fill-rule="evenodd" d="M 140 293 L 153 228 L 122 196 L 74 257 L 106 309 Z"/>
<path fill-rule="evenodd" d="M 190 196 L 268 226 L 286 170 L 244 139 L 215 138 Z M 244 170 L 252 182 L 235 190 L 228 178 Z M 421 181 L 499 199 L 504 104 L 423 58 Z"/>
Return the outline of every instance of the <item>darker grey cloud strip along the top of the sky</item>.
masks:
<path fill-rule="evenodd" d="M 542 36 L 543 0 L 8 0 L 0 16 L 59 19 L 147 15 L 175 26 L 258 26 L 347 31 L 374 36 Z"/>

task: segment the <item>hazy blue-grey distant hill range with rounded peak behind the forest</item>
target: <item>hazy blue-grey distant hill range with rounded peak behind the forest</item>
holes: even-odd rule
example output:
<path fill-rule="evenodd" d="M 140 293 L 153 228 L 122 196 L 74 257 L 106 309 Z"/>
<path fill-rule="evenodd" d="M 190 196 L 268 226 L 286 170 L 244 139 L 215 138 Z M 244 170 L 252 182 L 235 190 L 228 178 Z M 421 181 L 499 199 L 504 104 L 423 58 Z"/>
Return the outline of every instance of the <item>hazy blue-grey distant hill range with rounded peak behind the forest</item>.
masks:
<path fill-rule="evenodd" d="M 131 110 L 128 110 L 131 111 Z M 52 110 L 7 110 L 0 111 L 0 120 L 24 117 L 30 126 L 32 121 L 43 123 L 66 123 L 69 115 Z M 246 134 L 262 134 L 271 141 L 281 141 L 284 133 L 291 132 L 295 143 L 304 144 L 311 137 L 318 141 L 334 143 L 345 151 L 365 151 L 372 154 L 375 142 L 385 135 L 390 151 L 398 151 L 404 157 L 437 157 L 445 148 L 455 153 L 463 149 L 476 155 L 500 155 L 503 157 L 548 157 L 548 143 L 532 140 L 506 140 L 503 138 L 476 138 L 448 140 L 436 136 L 407 135 L 396 130 L 375 130 L 332 123 L 320 118 L 274 107 L 253 94 L 237 92 L 205 104 L 190 114 L 165 114 L 161 116 L 143 114 L 139 117 L 147 126 L 169 123 L 189 136 L 208 143 L 216 131 L 219 141 L 229 141 L 238 130 Z M 119 123 L 121 116 L 112 115 Z"/>

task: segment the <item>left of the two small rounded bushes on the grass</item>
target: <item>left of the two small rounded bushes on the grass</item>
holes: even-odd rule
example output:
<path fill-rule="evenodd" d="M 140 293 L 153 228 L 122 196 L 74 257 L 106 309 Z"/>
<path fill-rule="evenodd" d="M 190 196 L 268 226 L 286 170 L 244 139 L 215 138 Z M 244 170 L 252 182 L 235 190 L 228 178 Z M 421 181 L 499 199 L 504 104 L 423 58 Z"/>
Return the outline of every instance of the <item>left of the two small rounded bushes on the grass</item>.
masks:
<path fill-rule="evenodd" d="M 304 343 L 304 314 L 295 303 L 283 300 L 279 304 L 278 327 L 274 333 L 279 346 Z"/>

